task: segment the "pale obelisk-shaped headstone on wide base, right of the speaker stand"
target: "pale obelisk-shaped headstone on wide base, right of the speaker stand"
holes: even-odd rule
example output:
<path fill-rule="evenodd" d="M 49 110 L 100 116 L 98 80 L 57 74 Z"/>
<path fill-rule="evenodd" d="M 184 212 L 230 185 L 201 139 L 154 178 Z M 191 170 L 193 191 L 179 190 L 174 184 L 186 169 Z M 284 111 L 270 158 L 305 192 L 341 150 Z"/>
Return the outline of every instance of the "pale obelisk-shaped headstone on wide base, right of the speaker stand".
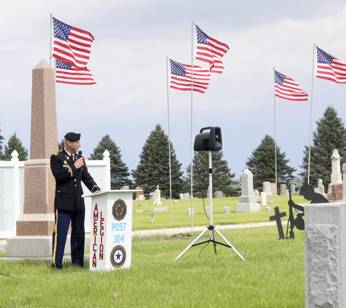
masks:
<path fill-rule="evenodd" d="M 256 196 L 254 196 L 253 175 L 249 169 L 246 168 L 243 171 L 240 183 L 242 195 L 239 197 L 239 203 L 236 204 L 236 212 L 261 212 L 261 205 L 256 202 Z"/>

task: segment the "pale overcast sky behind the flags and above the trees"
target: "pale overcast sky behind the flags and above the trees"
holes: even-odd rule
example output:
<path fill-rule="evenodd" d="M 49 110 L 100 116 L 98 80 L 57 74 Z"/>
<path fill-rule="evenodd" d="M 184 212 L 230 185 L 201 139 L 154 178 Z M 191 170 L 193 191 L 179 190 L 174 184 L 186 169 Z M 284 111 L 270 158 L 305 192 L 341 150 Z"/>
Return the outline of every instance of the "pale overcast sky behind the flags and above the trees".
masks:
<path fill-rule="evenodd" d="M 16 131 L 30 149 L 32 69 L 42 59 L 49 63 L 50 13 L 95 38 L 88 68 L 97 84 L 56 86 L 59 141 L 80 132 L 89 157 L 109 134 L 129 170 L 157 123 L 168 134 L 166 56 L 191 64 L 192 20 L 230 47 L 224 73 L 211 74 L 204 94 L 193 93 L 193 139 L 200 128 L 219 126 L 236 178 L 265 134 L 274 138 L 273 67 L 309 93 L 307 102 L 276 98 L 277 145 L 298 173 L 309 144 L 313 43 L 346 62 L 345 1 L 7 1 L 0 11 L 4 144 Z M 330 104 L 345 119 L 345 94 L 345 84 L 315 79 L 312 131 Z M 191 92 L 170 89 L 169 99 L 170 137 L 185 171 Z"/>

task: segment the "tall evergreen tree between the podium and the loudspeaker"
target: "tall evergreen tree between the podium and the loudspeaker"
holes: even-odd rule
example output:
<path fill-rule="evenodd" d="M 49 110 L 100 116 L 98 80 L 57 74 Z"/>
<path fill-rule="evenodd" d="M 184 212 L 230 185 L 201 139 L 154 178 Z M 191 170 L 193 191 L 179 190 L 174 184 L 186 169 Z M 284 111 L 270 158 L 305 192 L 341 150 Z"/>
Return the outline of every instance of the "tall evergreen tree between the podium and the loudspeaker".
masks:
<path fill-rule="evenodd" d="M 150 192 L 156 190 L 158 185 L 161 196 L 170 197 L 170 170 L 169 170 L 169 144 L 168 136 L 157 124 L 139 155 L 139 164 L 136 170 L 132 170 L 132 176 L 136 186 L 142 186 L 146 197 Z M 172 198 L 178 198 L 181 193 L 183 179 L 181 164 L 176 158 L 173 144 L 171 142 L 171 184 Z"/>

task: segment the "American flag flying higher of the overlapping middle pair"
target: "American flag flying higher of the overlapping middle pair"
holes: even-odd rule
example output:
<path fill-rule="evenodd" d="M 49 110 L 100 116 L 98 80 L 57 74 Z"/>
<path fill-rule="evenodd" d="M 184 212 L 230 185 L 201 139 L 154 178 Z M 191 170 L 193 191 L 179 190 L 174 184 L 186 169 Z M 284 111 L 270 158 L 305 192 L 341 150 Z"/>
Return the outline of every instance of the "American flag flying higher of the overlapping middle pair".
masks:
<path fill-rule="evenodd" d="M 211 73 L 221 74 L 225 67 L 221 58 L 228 52 L 229 47 L 225 43 L 208 36 L 197 25 L 197 49 L 195 49 L 194 58 L 210 64 Z"/>

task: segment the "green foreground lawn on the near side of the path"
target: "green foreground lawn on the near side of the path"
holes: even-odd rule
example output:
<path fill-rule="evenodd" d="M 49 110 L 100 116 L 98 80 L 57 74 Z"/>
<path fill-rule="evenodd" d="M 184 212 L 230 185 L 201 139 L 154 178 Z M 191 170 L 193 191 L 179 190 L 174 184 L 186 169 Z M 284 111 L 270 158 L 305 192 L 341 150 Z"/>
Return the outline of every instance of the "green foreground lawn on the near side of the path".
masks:
<path fill-rule="evenodd" d="M 174 261 L 193 237 L 149 236 L 133 237 L 130 269 L 90 272 L 67 262 L 65 271 L 54 271 L 48 262 L 0 263 L 0 273 L 13 277 L 0 276 L 0 306 L 304 307 L 304 231 L 295 232 L 295 240 L 277 240 L 276 226 L 221 233 L 246 261 L 221 245 L 215 255 L 212 243 Z"/>

